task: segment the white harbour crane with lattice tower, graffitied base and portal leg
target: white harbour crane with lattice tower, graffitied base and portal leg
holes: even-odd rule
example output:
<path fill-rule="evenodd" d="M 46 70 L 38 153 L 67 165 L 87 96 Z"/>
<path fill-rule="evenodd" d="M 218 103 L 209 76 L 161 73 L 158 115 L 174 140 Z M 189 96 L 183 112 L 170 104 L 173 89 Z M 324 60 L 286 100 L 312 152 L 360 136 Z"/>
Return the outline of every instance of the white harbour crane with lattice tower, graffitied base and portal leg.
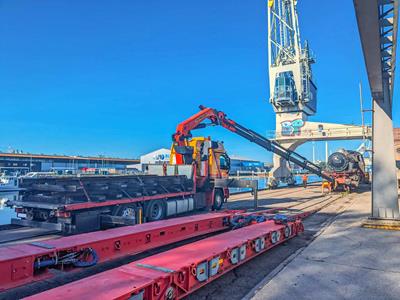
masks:
<path fill-rule="evenodd" d="M 297 0 L 268 0 L 268 64 L 270 103 L 276 113 L 277 142 L 295 150 L 306 141 L 362 139 L 371 132 L 362 126 L 308 122 L 317 112 L 315 63 L 307 41 L 300 40 Z M 288 162 L 274 155 L 270 185 L 293 184 Z"/>

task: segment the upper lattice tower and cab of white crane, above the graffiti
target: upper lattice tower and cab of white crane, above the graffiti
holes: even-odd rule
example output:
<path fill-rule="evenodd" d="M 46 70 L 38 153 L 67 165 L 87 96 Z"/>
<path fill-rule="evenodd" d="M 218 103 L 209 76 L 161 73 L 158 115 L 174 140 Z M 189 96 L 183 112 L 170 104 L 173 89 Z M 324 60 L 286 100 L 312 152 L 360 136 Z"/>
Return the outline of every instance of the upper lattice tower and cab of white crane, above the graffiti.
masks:
<path fill-rule="evenodd" d="M 268 63 L 270 101 L 277 115 L 317 110 L 317 87 L 312 80 L 308 43 L 302 47 L 296 0 L 268 1 Z"/>

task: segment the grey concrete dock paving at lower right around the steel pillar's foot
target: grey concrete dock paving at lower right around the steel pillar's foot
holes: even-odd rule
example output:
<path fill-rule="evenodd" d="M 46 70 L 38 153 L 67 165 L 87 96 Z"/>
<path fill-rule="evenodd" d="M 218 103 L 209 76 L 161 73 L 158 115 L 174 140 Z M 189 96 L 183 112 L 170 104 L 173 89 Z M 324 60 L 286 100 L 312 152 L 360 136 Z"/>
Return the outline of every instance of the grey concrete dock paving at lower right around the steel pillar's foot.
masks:
<path fill-rule="evenodd" d="M 245 298 L 399 299 L 400 231 L 362 228 L 370 211 L 370 192 L 353 196 Z"/>

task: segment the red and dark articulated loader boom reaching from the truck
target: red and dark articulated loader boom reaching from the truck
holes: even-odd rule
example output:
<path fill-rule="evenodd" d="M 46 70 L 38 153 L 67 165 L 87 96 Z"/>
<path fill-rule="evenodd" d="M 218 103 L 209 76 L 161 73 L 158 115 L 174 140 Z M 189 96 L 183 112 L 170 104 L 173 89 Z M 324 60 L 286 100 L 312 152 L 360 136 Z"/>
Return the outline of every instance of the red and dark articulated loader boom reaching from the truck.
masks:
<path fill-rule="evenodd" d="M 328 180 L 329 182 L 334 181 L 332 177 L 322 171 L 321 167 L 312 163 L 304 156 L 298 154 L 297 152 L 286 149 L 285 147 L 279 145 L 277 142 L 269 140 L 266 137 L 258 134 L 257 132 L 248 129 L 231 119 L 228 119 L 225 113 L 204 106 L 200 106 L 200 109 L 200 112 L 178 125 L 176 133 L 173 135 L 174 143 L 179 146 L 184 145 L 185 140 L 192 136 L 191 130 L 204 128 L 209 125 L 218 125 L 224 127 L 225 129 L 228 129 L 233 133 L 240 135 L 250 142 L 256 143 L 267 151 L 273 152 L 283 157 L 287 161 L 290 161 L 302 167 L 310 173 L 316 174 Z M 205 120 L 210 120 L 211 123 L 203 123 L 203 121 Z"/>

